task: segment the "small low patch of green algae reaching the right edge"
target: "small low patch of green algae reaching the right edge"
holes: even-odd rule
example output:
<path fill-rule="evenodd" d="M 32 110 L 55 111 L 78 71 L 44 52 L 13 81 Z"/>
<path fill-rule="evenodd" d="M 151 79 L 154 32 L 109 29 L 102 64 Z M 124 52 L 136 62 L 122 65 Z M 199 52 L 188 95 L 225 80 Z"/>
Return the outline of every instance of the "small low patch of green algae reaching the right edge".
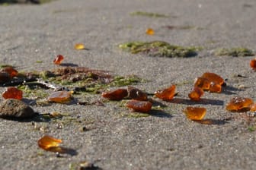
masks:
<path fill-rule="evenodd" d="M 214 55 L 216 56 L 233 56 L 233 57 L 244 57 L 244 56 L 253 56 L 254 52 L 251 49 L 246 49 L 243 47 L 231 48 L 231 49 L 216 49 L 214 51 Z"/>

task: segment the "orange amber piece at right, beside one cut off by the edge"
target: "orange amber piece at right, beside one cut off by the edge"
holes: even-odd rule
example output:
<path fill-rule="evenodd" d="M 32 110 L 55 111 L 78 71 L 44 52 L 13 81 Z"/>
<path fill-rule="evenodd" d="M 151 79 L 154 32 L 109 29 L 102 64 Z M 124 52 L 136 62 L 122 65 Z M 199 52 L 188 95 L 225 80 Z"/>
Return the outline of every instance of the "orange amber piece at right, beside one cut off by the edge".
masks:
<path fill-rule="evenodd" d="M 226 109 L 231 112 L 239 112 L 243 109 L 249 109 L 253 104 L 253 100 L 245 97 L 234 97 L 226 105 Z"/>

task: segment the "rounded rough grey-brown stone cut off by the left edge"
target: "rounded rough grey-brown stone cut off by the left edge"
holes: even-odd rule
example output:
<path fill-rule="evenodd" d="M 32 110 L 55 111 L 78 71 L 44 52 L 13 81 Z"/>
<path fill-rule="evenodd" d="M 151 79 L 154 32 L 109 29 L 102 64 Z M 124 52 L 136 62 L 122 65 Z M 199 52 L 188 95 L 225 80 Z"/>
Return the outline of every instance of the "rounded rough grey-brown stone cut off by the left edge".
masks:
<path fill-rule="evenodd" d="M 33 118 L 34 110 L 18 99 L 6 99 L 0 105 L 1 118 Z"/>

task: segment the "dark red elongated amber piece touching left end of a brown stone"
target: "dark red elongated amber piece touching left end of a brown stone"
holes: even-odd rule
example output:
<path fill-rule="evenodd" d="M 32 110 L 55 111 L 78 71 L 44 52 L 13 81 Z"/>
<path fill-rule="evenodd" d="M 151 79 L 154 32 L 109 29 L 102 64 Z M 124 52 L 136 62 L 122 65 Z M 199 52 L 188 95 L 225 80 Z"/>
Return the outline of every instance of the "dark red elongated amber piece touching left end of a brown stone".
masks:
<path fill-rule="evenodd" d="M 101 94 L 101 96 L 110 100 L 121 100 L 125 98 L 127 95 L 128 92 L 126 89 L 117 89 L 109 92 L 104 92 Z"/>

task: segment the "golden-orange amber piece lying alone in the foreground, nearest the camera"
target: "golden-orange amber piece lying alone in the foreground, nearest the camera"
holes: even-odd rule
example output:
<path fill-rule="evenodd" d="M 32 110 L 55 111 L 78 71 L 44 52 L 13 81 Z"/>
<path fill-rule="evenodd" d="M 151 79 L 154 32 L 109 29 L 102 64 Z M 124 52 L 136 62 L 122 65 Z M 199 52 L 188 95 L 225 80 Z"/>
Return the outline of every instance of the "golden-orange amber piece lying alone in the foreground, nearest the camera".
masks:
<path fill-rule="evenodd" d="M 48 135 L 43 136 L 40 140 L 37 141 L 38 146 L 43 150 L 50 150 L 50 148 L 59 146 L 59 143 L 62 143 L 62 140 L 50 137 Z"/>

